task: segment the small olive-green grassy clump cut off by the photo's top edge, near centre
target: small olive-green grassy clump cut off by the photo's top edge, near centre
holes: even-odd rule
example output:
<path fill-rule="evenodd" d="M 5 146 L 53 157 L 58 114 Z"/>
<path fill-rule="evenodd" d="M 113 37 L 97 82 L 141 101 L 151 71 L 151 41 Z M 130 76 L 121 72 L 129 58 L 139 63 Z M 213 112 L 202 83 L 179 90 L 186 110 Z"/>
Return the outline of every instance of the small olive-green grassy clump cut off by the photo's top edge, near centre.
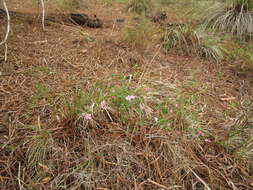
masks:
<path fill-rule="evenodd" d="M 131 0 L 127 9 L 130 12 L 143 14 L 152 10 L 153 4 L 151 0 Z"/>

